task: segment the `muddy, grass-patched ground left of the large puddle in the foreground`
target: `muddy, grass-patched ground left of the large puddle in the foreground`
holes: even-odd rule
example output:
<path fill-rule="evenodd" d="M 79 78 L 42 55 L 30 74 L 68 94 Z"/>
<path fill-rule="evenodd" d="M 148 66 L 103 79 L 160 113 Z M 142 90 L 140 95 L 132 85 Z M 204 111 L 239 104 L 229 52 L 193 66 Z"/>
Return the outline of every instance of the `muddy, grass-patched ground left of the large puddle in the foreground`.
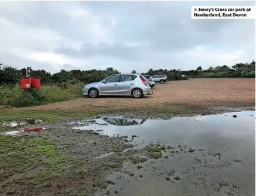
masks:
<path fill-rule="evenodd" d="M 102 136 L 97 131 L 73 130 L 74 125 L 41 122 L 26 125 L 44 127 L 41 132 L 2 132 L 0 195 L 93 195 L 113 185 L 106 176 L 121 170 L 127 161 L 139 164 L 160 156 L 160 151 L 151 152 L 151 148 L 130 149 L 132 136 Z"/>

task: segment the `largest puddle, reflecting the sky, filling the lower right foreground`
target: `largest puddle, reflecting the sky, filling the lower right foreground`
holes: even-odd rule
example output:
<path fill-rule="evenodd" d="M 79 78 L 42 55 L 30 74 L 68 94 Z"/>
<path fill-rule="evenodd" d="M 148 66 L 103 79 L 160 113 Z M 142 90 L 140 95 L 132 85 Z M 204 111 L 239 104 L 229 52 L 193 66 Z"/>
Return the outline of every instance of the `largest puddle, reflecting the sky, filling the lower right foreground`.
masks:
<path fill-rule="evenodd" d="M 78 122 L 74 128 L 127 136 L 135 149 L 157 144 L 166 150 L 157 160 L 126 163 L 129 172 L 111 174 L 115 185 L 96 195 L 255 195 L 255 111 L 142 124 L 127 120 L 132 125 L 111 120 Z"/>

